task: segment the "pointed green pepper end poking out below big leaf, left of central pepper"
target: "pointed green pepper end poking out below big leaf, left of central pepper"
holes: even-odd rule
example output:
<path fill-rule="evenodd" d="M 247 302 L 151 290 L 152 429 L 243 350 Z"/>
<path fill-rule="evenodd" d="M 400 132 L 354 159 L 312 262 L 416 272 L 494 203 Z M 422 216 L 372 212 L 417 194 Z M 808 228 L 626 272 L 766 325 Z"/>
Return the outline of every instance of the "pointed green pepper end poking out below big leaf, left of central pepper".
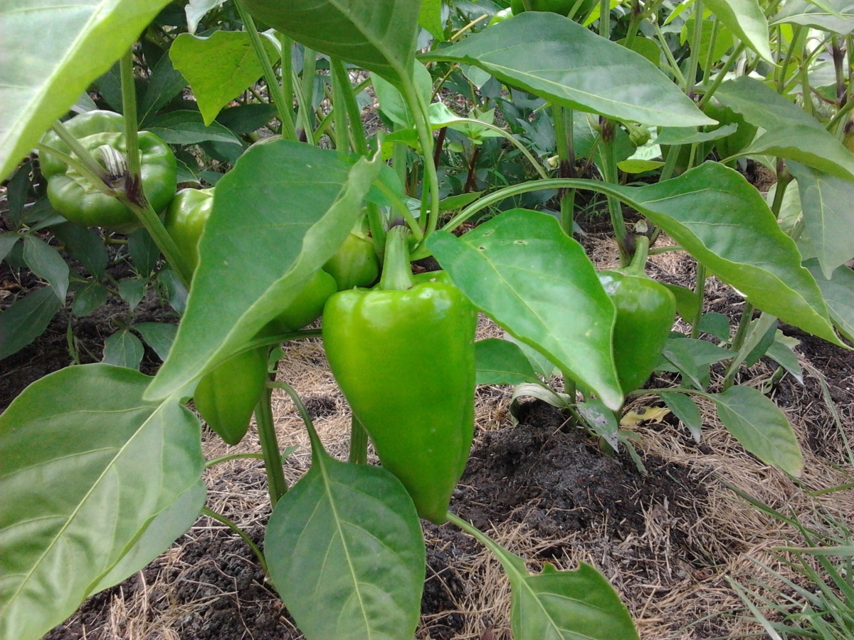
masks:
<path fill-rule="evenodd" d="M 266 347 L 237 354 L 202 376 L 193 402 L 208 426 L 228 444 L 249 430 L 267 379 Z"/>

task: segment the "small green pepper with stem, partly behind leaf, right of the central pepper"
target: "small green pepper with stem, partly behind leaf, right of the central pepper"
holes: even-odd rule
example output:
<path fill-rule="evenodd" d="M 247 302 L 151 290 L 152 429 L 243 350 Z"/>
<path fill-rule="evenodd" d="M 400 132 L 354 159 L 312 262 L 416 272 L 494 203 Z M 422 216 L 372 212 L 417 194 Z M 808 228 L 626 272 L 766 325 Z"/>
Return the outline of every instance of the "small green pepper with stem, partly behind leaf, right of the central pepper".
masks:
<path fill-rule="evenodd" d="M 617 309 L 614 362 L 623 393 L 634 391 L 649 378 L 676 320 L 676 298 L 644 273 L 648 245 L 649 239 L 639 236 L 629 267 L 599 273 Z"/>

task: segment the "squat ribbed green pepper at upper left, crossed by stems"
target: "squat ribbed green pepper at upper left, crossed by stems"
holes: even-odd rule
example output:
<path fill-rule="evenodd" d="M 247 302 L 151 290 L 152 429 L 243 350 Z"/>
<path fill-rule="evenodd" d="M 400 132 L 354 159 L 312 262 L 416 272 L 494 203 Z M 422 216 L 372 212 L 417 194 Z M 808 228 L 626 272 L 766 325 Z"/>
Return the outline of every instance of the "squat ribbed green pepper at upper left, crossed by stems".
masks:
<path fill-rule="evenodd" d="M 89 111 L 65 123 L 81 146 L 102 162 L 98 147 L 108 145 L 127 152 L 122 116 L 109 111 Z M 56 132 L 48 132 L 43 143 L 70 154 L 67 144 Z M 140 173 L 145 197 L 160 212 L 175 195 L 178 165 L 169 145 L 150 132 L 139 132 Z M 73 155 L 73 154 L 72 154 Z M 76 169 L 67 166 L 50 152 L 40 158 L 42 173 L 48 179 L 48 198 L 57 213 L 85 226 L 106 226 L 122 232 L 139 226 L 137 216 L 119 200 L 97 191 Z"/>

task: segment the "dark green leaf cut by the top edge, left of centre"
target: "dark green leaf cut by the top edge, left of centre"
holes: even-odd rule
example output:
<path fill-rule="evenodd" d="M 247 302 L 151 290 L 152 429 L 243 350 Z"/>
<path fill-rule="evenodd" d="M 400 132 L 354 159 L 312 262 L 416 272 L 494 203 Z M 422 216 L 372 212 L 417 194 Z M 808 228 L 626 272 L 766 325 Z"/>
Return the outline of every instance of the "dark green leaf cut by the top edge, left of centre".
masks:
<path fill-rule="evenodd" d="M 418 34 L 412 0 L 246 0 L 277 31 L 327 56 L 379 73 L 393 85 L 409 77 Z"/>

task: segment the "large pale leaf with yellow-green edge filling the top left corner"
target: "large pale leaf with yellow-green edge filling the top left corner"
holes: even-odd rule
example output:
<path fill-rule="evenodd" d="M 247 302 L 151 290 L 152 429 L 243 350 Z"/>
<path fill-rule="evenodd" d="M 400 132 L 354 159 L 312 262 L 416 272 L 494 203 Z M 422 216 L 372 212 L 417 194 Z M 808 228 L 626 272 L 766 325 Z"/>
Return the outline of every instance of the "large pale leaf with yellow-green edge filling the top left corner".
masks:
<path fill-rule="evenodd" d="M 0 180 L 167 0 L 0 3 Z"/>

